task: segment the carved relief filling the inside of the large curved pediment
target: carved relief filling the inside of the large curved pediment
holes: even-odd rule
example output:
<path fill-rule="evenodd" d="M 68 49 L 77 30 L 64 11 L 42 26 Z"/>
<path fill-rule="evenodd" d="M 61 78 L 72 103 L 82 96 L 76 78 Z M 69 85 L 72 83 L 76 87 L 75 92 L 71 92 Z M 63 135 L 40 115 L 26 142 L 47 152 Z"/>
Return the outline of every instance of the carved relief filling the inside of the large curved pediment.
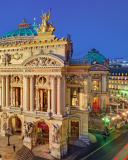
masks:
<path fill-rule="evenodd" d="M 61 64 L 52 58 L 38 57 L 25 64 L 25 66 L 41 67 L 41 66 L 61 66 Z"/>

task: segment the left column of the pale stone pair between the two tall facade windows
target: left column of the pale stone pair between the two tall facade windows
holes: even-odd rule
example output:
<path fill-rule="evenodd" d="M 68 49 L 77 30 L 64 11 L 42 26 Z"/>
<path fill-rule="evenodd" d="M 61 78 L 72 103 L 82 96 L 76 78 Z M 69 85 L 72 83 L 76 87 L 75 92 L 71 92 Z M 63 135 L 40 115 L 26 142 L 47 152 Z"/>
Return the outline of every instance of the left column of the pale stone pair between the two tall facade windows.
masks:
<path fill-rule="evenodd" d="M 29 77 L 28 76 L 24 76 L 24 78 L 25 78 L 24 109 L 26 111 L 29 111 Z"/>

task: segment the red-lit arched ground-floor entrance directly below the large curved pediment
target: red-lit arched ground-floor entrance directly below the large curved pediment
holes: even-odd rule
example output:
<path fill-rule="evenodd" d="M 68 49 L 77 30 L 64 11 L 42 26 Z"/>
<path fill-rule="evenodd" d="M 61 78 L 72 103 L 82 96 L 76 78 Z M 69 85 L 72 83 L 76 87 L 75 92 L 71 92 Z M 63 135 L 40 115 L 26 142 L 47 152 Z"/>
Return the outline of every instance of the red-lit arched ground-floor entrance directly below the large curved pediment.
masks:
<path fill-rule="evenodd" d="M 38 122 L 37 143 L 49 143 L 49 126 L 45 122 Z"/>

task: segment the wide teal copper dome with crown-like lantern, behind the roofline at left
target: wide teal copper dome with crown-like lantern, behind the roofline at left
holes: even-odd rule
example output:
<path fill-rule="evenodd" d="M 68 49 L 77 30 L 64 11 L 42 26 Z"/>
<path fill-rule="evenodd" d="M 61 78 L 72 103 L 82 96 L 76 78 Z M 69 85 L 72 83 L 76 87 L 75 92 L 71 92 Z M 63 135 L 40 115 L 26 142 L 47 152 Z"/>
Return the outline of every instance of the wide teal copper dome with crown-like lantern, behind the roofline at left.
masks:
<path fill-rule="evenodd" d="M 17 30 L 13 30 L 13 31 L 9 31 L 5 34 L 3 34 L 0 38 L 6 38 L 6 37 L 17 37 L 17 36 L 37 36 L 37 31 L 35 29 L 32 29 L 30 27 L 30 23 L 27 23 L 25 19 L 22 20 L 22 23 L 18 24 L 18 29 Z"/>

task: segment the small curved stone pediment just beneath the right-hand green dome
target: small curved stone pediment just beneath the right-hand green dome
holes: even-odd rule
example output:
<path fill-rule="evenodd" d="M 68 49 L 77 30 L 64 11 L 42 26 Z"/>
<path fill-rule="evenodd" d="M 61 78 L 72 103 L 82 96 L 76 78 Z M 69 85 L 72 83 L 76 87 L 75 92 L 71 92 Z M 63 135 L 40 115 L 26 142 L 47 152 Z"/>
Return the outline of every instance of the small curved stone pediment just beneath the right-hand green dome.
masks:
<path fill-rule="evenodd" d="M 89 71 L 108 71 L 109 68 L 103 64 L 94 64 L 91 65 Z"/>

